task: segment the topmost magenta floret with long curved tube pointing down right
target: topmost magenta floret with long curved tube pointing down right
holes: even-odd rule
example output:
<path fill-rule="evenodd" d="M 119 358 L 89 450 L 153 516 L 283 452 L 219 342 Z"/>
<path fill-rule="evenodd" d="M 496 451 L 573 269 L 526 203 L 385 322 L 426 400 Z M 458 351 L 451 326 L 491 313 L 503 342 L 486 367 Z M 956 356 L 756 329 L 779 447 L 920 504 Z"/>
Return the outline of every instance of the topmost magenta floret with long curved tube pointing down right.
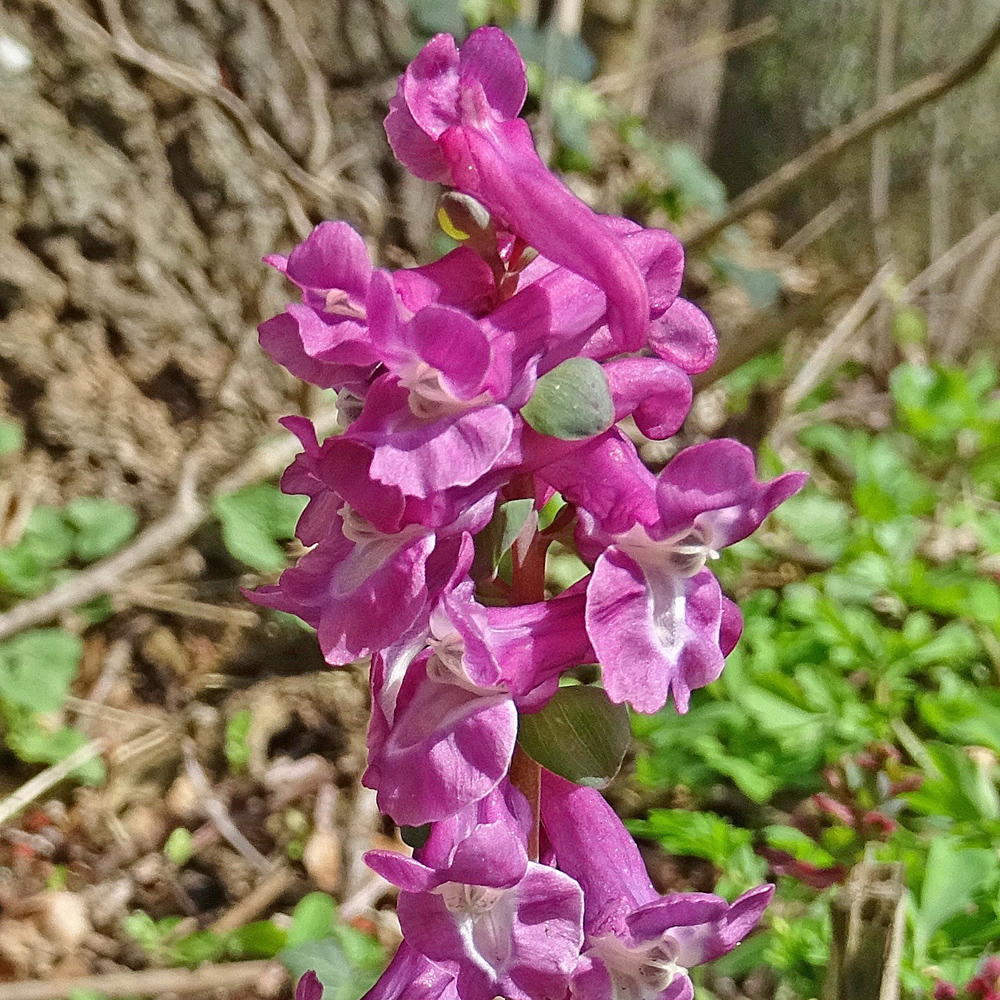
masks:
<path fill-rule="evenodd" d="M 603 289 L 621 350 L 638 350 L 649 323 L 646 283 L 611 225 L 559 181 L 517 118 L 524 63 L 498 28 L 461 49 L 437 35 L 400 77 L 385 120 L 397 158 L 418 177 L 472 195 L 540 254 Z"/>

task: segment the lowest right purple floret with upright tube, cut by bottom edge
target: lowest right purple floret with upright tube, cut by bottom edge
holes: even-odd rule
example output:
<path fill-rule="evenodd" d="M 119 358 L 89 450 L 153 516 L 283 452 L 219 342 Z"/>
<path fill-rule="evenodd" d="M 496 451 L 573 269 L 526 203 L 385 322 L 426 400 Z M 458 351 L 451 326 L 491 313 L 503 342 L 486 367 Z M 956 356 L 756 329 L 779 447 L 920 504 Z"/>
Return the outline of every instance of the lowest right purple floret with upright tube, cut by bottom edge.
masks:
<path fill-rule="evenodd" d="M 691 1000 L 688 970 L 732 951 L 757 926 L 774 886 L 729 904 L 710 893 L 658 896 L 614 810 L 592 788 L 542 775 L 542 823 L 561 870 L 584 893 L 577 1000 Z"/>

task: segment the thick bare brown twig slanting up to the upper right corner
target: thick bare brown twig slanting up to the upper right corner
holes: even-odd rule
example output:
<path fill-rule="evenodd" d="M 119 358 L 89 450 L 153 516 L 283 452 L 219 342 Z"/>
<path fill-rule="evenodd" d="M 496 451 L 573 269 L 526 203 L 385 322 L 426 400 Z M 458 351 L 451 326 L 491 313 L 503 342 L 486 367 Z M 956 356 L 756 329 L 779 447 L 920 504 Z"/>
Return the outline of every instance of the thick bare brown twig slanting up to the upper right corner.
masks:
<path fill-rule="evenodd" d="M 726 212 L 713 222 L 695 230 L 685 240 L 688 250 L 711 242 L 734 223 L 751 212 L 771 204 L 817 170 L 827 166 L 846 150 L 870 139 L 875 133 L 908 118 L 922 107 L 944 97 L 949 91 L 971 80 L 990 61 L 1000 47 L 1000 18 L 976 49 L 962 62 L 942 72 L 928 73 L 896 91 L 858 115 L 853 121 L 834 129 L 804 153 L 796 156 L 760 183 L 734 199 Z"/>

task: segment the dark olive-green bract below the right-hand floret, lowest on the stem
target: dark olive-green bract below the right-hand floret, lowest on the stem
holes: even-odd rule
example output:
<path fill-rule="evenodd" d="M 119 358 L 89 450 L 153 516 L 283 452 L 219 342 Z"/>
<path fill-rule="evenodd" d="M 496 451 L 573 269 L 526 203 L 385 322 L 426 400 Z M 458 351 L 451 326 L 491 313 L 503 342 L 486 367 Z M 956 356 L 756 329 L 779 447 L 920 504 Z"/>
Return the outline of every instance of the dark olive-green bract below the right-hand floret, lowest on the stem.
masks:
<path fill-rule="evenodd" d="M 540 712 L 521 714 L 518 740 L 542 767 L 591 788 L 618 773 L 631 739 L 628 709 L 598 687 L 563 687 Z"/>

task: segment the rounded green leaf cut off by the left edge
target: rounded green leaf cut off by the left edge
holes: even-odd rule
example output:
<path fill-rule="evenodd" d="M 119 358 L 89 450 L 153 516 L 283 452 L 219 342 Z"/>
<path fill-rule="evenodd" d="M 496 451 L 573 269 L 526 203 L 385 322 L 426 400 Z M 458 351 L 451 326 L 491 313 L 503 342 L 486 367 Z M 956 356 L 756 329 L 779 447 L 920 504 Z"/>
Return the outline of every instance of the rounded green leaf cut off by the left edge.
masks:
<path fill-rule="evenodd" d="M 58 711 L 83 655 L 62 629 L 36 629 L 0 645 L 0 698 L 33 712 Z"/>

